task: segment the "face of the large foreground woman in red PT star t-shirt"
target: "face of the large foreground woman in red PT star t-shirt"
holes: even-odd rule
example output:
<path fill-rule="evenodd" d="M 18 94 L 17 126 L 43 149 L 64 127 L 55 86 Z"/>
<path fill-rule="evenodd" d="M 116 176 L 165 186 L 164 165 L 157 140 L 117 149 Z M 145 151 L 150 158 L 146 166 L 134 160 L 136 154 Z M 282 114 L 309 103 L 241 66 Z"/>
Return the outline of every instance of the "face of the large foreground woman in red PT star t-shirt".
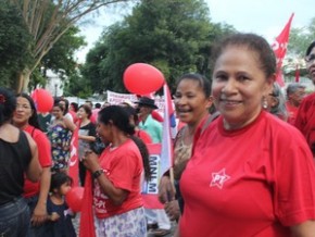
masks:
<path fill-rule="evenodd" d="M 237 129 L 251 123 L 260 114 L 273 82 L 260 67 L 256 52 L 239 46 L 226 48 L 215 63 L 212 84 L 225 128 Z"/>

